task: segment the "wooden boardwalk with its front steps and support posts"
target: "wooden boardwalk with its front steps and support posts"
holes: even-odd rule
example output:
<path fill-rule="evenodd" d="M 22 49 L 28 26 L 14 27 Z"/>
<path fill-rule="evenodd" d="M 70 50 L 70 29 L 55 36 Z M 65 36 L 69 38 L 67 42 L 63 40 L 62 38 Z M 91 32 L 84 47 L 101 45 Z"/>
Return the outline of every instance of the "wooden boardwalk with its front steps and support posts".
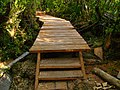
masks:
<path fill-rule="evenodd" d="M 31 53 L 37 53 L 35 90 L 39 80 L 71 80 L 86 78 L 83 50 L 90 50 L 86 41 L 65 19 L 41 15 L 39 19 L 44 22 L 33 46 Z M 41 53 L 50 52 L 78 52 L 78 58 L 41 58 Z M 44 69 L 46 69 L 44 71 Z M 47 70 L 49 69 L 49 70 Z M 54 71 L 52 69 L 55 69 Z M 60 69 L 60 70 L 58 70 Z M 74 69 L 74 70 L 73 70 Z"/>

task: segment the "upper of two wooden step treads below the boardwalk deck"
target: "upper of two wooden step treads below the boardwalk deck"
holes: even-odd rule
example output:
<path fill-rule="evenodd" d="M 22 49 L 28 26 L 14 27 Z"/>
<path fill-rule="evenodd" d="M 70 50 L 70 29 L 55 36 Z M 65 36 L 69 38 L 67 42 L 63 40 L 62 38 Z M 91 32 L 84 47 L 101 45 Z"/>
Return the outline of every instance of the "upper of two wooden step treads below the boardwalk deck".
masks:
<path fill-rule="evenodd" d="M 40 69 L 80 68 L 79 58 L 48 58 L 42 59 Z"/>

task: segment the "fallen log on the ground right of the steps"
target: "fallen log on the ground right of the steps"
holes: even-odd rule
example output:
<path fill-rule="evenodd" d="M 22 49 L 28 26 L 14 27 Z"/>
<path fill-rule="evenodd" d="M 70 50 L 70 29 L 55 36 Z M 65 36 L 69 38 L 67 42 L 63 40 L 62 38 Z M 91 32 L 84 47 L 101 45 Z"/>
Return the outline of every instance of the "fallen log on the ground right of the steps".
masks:
<path fill-rule="evenodd" d="M 95 74 L 99 75 L 101 78 L 103 78 L 110 84 L 113 84 L 116 87 L 120 88 L 120 80 L 118 80 L 117 78 L 109 75 L 108 73 L 104 72 L 103 70 L 101 70 L 99 68 L 94 68 L 93 71 Z"/>

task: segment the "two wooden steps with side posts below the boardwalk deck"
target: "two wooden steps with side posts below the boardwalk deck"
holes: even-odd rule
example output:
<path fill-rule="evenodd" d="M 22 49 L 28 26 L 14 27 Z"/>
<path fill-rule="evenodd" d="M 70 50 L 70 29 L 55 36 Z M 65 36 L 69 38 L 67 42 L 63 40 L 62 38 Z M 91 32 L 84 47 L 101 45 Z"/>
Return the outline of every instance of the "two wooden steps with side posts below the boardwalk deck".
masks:
<path fill-rule="evenodd" d="M 37 55 L 37 65 L 36 65 L 36 77 L 35 77 L 35 90 L 38 90 L 38 84 L 39 84 L 39 80 L 47 80 L 47 81 L 51 81 L 51 80 L 74 80 L 77 78 L 82 78 L 86 79 L 86 73 L 85 73 L 85 67 L 84 67 L 84 61 L 83 61 L 83 56 L 82 56 L 82 52 L 78 52 L 79 53 L 79 57 L 78 58 L 54 58 L 53 63 L 58 59 L 58 62 L 60 62 L 60 60 L 62 59 L 63 62 L 65 62 L 64 64 L 50 64 L 50 60 L 41 59 L 41 54 L 38 53 Z M 68 60 L 65 61 L 65 60 Z M 73 62 L 76 61 L 76 62 Z M 41 63 L 42 62 L 42 63 Z M 47 62 L 47 63 L 46 63 Z M 62 61 L 61 61 L 62 62 Z M 70 64 L 68 64 L 70 62 Z M 73 63 L 73 64 L 72 64 Z M 57 71 L 41 71 L 42 69 L 57 69 Z M 81 70 L 78 70 L 80 69 Z M 59 71 L 60 69 L 60 71 Z M 61 69 L 67 69 L 64 71 L 61 71 Z M 74 69 L 74 70 L 69 70 L 69 69 Z M 77 70 L 76 70 L 77 69 Z"/>

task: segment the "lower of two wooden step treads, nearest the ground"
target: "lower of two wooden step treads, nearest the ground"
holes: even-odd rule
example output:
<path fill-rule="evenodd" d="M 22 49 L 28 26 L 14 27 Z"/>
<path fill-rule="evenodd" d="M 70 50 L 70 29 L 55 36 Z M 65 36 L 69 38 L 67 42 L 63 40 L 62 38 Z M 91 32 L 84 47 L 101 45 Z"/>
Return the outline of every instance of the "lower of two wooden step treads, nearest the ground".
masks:
<path fill-rule="evenodd" d="M 39 80 L 72 80 L 82 77 L 81 70 L 40 71 Z"/>

